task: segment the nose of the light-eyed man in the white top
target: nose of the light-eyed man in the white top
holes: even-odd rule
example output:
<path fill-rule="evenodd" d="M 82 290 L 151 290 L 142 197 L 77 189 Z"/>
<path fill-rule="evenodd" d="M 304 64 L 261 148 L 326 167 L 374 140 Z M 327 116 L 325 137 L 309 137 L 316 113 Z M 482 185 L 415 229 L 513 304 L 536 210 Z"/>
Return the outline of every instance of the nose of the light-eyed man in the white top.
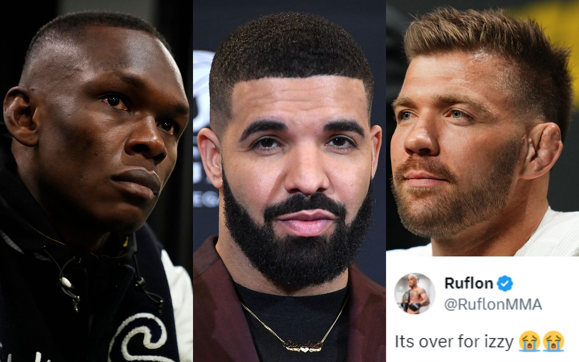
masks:
<path fill-rule="evenodd" d="M 438 146 L 438 120 L 434 115 L 425 112 L 412 125 L 404 140 L 404 149 L 409 155 L 436 156 Z"/>

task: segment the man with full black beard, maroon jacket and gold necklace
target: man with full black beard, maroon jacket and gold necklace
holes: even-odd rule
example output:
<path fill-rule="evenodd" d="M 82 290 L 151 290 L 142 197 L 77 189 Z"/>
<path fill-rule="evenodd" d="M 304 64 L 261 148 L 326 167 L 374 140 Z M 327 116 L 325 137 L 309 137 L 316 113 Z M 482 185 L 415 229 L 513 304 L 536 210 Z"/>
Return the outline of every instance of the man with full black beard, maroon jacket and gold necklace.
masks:
<path fill-rule="evenodd" d="M 354 265 L 382 141 L 360 46 L 272 14 L 221 42 L 209 82 L 219 235 L 193 256 L 195 359 L 383 361 L 384 289 Z"/>

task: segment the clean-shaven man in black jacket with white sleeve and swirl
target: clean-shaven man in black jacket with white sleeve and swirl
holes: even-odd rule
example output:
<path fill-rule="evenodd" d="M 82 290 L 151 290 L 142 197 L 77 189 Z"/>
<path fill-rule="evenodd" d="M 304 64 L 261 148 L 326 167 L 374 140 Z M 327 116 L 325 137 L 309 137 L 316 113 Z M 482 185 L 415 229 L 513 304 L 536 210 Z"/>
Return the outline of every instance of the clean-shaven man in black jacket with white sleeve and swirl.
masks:
<path fill-rule="evenodd" d="M 188 112 L 145 21 L 72 13 L 38 31 L 0 129 L 0 360 L 192 360 L 189 277 L 141 228 Z"/>

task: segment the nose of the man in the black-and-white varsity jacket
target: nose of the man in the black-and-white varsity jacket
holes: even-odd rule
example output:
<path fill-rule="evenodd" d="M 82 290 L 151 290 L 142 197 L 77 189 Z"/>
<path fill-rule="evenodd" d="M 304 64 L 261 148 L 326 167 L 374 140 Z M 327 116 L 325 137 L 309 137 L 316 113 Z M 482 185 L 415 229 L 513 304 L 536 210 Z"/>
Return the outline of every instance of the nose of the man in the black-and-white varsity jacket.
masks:
<path fill-rule="evenodd" d="M 155 165 L 161 163 L 167 156 L 167 148 L 157 121 L 152 115 L 147 115 L 135 123 L 133 131 L 125 145 L 129 155 L 141 154 L 146 159 L 152 159 Z"/>

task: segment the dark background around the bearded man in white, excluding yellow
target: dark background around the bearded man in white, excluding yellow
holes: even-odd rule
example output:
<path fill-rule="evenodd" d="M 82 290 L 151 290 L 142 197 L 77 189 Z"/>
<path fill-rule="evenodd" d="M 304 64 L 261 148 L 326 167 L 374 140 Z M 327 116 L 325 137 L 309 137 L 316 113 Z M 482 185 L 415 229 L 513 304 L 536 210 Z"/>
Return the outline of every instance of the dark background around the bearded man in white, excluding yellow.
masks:
<path fill-rule="evenodd" d="M 571 1 L 543 1 L 542 3 L 553 3 L 560 5 L 563 3 L 570 3 Z M 576 0 L 575 0 L 576 2 Z M 502 1 L 485 1 L 479 2 L 475 0 L 447 0 L 440 1 L 426 1 L 414 0 L 407 2 L 391 2 L 387 5 L 386 23 L 388 28 L 388 44 L 387 47 L 387 104 L 388 116 L 386 134 L 384 138 L 389 143 L 396 123 L 394 121 L 394 114 L 390 103 L 398 96 L 402 82 L 404 82 L 404 73 L 406 71 L 406 60 L 404 57 L 404 50 L 402 49 L 402 34 L 408 27 L 412 16 L 421 15 L 433 10 L 436 6 L 450 5 L 458 10 L 476 9 L 483 10 L 488 8 L 501 7 L 511 11 L 517 11 L 525 8 L 525 6 L 532 3 L 541 3 L 537 1 L 528 0 L 502 0 Z M 579 20 L 577 20 L 579 21 Z M 540 19 L 539 19 L 539 23 Z M 577 41 L 575 47 L 579 46 L 579 34 L 576 36 Z M 569 44 L 573 45 L 573 44 Z M 568 45 L 568 46 L 569 46 Z M 577 51 L 577 50 L 576 50 Z M 579 67 L 575 64 L 574 67 Z M 579 92 L 576 89 L 575 92 Z M 577 104 L 575 113 L 571 120 L 571 126 L 567 133 L 565 143 L 563 144 L 563 153 L 559 160 L 551 170 L 551 177 L 549 181 L 549 192 L 547 198 L 551 208 L 556 211 L 577 211 L 579 210 L 579 113 L 577 112 Z M 388 156 L 386 162 L 389 169 L 389 175 L 392 174 L 390 164 L 390 147 L 387 147 Z M 390 191 L 390 184 L 387 185 L 387 224 L 386 224 L 386 249 L 409 248 L 412 246 L 424 245 L 429 242 L 427 239 L 422 239 L 418 236 L 412 235 L 406 231 L 404 226 L 400 223 L 396 204 Z"/>

